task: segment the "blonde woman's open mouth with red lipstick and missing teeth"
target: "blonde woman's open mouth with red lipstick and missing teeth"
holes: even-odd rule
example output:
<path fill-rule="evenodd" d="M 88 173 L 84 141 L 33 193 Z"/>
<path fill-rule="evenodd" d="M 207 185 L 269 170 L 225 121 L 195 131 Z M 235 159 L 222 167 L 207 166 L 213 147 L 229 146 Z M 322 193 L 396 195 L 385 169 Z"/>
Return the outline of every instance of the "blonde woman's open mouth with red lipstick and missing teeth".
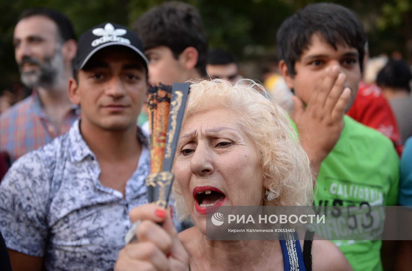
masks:
<path fill-rule="evenodd" d="M 206 207 L 221 206 L 226 196 L 218 188 L 211 186 L 198 186 L 193 190 L 195 207 L 198 213 L 206 214 Z M 208 212 L 209 212 L 208 208 Z"/>

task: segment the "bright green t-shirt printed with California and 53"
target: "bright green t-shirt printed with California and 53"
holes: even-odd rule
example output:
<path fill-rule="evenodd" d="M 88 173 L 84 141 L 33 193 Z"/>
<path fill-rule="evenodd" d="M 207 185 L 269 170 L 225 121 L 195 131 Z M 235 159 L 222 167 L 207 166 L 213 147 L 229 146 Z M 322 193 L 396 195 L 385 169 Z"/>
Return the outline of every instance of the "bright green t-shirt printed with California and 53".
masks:
<path fill-rule="evenodd" d="M 399 158 L 383 134 L 344 116 L 341 137 L 323 160 L 316 181 L 315 206 L 396 205 Z M 383 270 L 382 241 L 333 242 L 354 271 Z"/>

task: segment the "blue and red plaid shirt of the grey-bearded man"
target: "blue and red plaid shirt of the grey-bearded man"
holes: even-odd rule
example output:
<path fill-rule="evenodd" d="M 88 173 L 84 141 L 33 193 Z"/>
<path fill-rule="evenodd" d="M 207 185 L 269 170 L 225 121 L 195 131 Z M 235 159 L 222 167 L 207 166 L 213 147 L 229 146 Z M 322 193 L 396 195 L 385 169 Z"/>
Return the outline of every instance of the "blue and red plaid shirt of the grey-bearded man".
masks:
<path fill-rule="evenodd" d="M 0 151 L 13 163 L 21 155 L 68 132 L 79 116 L 78 110 L 79 107 L 73 106 L 60 127 L 56 127 L 42 109 L 39 95 L 34 90 L 31 96 L 0 115 Z"/>

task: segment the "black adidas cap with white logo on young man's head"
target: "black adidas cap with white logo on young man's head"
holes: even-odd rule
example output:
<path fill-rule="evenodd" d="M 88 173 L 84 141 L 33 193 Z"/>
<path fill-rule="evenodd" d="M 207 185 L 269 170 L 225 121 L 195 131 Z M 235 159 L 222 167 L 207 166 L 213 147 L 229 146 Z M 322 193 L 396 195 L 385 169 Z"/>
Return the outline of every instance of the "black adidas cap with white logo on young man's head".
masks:
<path fill-rule="evenodd" d="M 80 35 L 73 69 L 82 69 L 94 53 L 111 45 L 126 46 L 138 53 L 147 70 L 149 61 L 140 38 L 133 31 L 115 23 L 101 23 Z"/>

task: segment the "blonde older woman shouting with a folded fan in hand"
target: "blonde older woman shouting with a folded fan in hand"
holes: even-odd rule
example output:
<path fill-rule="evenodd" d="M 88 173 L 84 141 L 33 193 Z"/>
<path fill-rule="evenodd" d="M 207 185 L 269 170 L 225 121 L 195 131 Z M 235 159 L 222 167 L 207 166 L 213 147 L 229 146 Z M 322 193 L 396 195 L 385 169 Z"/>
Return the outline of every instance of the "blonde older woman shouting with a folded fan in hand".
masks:
<path fill-rule="evenodd" d="M 142 221 L 138 242 L 119 253 L 116 271 L 289 270 L 279 241 L 206 240 L 206 205 L 312 203 L 307 155 L 286 113 L 262 91 L 248 80 L 235 86 L 219 79 L 192 83 L 173 189 L 177 213 L 181 219 L 190 215 L 195 226 L 177 234 L 169 211 L 153 204 L 136 207 L 130 217 Z M 299 270 L 306 270 L 301 249 L 297 256 Z M 313 241 L 311 256 L 314 270 L 351 270 L 329 241 Z"/>

